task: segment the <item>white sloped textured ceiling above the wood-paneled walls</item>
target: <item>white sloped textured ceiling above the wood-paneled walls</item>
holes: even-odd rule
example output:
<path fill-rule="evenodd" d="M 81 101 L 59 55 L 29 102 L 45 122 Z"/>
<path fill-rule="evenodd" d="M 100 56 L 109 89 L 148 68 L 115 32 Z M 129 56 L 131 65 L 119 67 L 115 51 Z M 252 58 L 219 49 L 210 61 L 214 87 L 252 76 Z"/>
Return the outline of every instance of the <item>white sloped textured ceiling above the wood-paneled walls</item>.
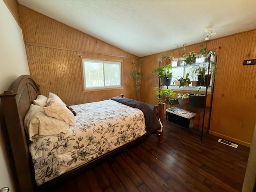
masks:
<path fill-rule="evenodd" d="M 256 0 L 18 0 L 32 10 L 143 57 L 256 29 Z"/>

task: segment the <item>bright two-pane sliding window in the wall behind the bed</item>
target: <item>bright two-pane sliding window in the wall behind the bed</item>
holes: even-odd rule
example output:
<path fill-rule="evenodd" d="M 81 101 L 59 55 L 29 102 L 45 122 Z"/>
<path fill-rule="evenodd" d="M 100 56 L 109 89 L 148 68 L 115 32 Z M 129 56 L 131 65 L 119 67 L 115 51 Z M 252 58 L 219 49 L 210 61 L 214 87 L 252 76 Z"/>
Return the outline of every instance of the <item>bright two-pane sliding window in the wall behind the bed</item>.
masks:
<path fill-rule="evenodd" d="M 121 87 L 121 62 L 83 59 L 84 89 Z"/>

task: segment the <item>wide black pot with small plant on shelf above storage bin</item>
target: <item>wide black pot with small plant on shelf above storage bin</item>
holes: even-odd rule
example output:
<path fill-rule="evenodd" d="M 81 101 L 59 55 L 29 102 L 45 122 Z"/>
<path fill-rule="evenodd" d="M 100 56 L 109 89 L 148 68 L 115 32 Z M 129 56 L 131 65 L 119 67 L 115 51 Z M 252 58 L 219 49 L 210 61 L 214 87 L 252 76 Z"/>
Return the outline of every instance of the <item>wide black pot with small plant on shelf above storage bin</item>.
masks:
<path fill-rule="evenodd" d="M 206 94 L 200 93 L 200 88 L 197 89 L 197 93 L 193 92 L 189 95 L 189 103 L 193 108 L 204 108 L 206 104 Z"/>

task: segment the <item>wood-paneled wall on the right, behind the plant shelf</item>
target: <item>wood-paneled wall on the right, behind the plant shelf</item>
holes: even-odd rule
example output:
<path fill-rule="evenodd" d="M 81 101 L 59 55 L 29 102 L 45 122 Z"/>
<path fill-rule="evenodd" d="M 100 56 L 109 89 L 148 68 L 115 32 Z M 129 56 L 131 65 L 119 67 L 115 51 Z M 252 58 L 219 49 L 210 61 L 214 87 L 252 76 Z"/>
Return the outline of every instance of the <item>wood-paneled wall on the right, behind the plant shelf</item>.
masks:
<path fill-rule="evenodd" d="M 205 42 L 186 46 L 186 52 L 199 52 L 202 47 L 205 47 Z M 250 146 L 256 122 L 256 65 L 243 66 L 243 61 L 248 56 L 256 59 L 256 30 L 210 40 L 208 49 L 216 48 L 218 64 L 210 133 Z M 166 53 L 177 56 L 176 50 L 170 50 L 143 58 L 147 66 L 142 68 L 143 102 L 157 101 L 154 86 L 158 86 L 158 78 L 151 72 L 159 66 L 158 57 Z M 197 121 L 201 122 L 200 119 Z"/>

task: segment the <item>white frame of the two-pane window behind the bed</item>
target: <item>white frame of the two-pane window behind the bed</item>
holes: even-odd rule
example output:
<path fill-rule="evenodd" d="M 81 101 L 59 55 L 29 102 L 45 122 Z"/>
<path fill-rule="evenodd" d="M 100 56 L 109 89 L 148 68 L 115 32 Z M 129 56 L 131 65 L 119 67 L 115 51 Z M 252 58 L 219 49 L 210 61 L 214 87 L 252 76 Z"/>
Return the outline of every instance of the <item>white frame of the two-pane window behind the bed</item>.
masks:
<path fill-rule="evenodd" d="M 98 62 L 102 63 L 102 78 L 103 78 L 103 86 L 86 86 L 86 71 L 85 71 L 85 62 Z M 104 64 L 118 64 L 119 65 L 119 85 L 107 86 L 105 81 L 105 68 Z M 121 60 L 100 60 L 100 59 L 92 59 L 92 58 L 82 58 L 82 68 L 83 68 L 83 84 L 84 91 L 93 91 L 93 90 L 112 90 L 112 89 L 120 89 L 122 88 L 122 61 Z"/>

